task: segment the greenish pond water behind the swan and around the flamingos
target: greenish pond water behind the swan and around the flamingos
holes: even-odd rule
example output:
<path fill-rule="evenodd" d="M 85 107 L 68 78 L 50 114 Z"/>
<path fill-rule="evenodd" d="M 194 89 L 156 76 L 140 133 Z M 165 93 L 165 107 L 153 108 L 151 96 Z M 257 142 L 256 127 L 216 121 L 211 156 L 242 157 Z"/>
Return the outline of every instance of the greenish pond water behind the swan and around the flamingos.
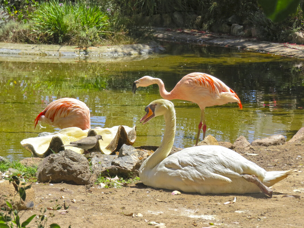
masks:
<path fill-rule="evenodd" d="M 38 63 L 0 61 L 0 156 L 20 160 L 31 154 L 20 141 L 52 126 L 34 130 L 34 119 L 50 102 L 63 97 L 84 101 L 91 110 L 91 127 L 137 126 L 133 146 L 159 145 L 164 119 L 148 124 L 139 120 L 151 101 L 161 98 L 157 85 L 132 84 L 144 75 L 161 78 L 167 91 L 191 72 L 211 74 L 232 88 L 237 103 L 205 109 L 207 133 L 218 141 L 233 143 L 240 135 L 249 142 L 273 134 L 289 140 L 303 125 L 303 60 L 258 54 L 222 47 L 163 43 L 166 52 L 108 61 Z M 191 147 L 200 121 L 198 105 L 172 100 L 176 109 L 177 132 L 174 146 Z M 201 134 L 202 139 L 202 134 Z"/>

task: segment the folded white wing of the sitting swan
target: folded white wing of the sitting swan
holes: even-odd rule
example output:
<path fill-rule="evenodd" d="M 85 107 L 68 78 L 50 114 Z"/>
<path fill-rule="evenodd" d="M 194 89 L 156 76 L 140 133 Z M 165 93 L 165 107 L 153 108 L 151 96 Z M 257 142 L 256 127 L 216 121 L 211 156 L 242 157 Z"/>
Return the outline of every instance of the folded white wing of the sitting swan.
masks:
<path fill-rule="evenodd" d="M 223 148 L 186 148 L 167 157 L 164 167 L 170 170 L 171 175 L 179 175 L 185 183 L 198 185 L 231 182 L 230 178 L 239 178 L 243 173 L 262 175 L 264 170 L 256 164 L 232 150 Z"/>

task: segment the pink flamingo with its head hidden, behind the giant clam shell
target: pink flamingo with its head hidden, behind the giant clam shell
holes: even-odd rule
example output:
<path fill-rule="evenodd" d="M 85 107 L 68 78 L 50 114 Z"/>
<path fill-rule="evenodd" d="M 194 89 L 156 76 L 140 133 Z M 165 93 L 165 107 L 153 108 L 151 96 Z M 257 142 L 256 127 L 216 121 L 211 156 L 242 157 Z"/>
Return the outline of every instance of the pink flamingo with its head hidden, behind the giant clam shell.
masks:
<path fill-rule="evenodd" d="M 36 117 L 35 128 L 39 120 L 60 129 L 68 127 L 91 129 L 90 109 L 84 102 L 74 98 L 61 98 L 47 105 Z"/>

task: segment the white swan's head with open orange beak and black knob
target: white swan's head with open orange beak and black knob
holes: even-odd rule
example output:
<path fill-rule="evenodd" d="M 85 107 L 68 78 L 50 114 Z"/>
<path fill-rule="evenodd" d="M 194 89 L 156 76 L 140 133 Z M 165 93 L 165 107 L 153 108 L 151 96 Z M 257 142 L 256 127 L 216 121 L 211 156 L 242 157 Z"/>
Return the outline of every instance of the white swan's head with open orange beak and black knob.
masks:
<path fill-rule="evenodd" d="M 155 116 L 161 116 L 168 112 L 168 110 L 174 110 L 174 105 L 171 101 L 165 99 L 158 99 L 152 101 L 146 108 L 147 112 L 143 118 L 140 119 L 140 123 L 147 123 L 150 119 Z"/>

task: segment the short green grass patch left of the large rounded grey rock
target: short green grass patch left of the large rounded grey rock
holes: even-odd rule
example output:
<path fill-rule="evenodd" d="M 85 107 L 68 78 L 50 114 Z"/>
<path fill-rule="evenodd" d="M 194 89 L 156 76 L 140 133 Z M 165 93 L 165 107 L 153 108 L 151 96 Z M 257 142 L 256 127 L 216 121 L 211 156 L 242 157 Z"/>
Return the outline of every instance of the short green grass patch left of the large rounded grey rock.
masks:
<path fill-rule="evenodd" d="M 35 182 L 36 179 L 36 171 L 37 171 L 37 166 L 25 166 L 22 165 L 19 161 L 13 161 L 13 162 L 5 162 L 2 161 L 0 162 L 0 171 L 5 172 L 9 168 L 12 168 L 16 170 L 15 172 L 12 173 L 12 175 L 15 176 L 22 176 L 27 180 L 27 182 Z"/>

